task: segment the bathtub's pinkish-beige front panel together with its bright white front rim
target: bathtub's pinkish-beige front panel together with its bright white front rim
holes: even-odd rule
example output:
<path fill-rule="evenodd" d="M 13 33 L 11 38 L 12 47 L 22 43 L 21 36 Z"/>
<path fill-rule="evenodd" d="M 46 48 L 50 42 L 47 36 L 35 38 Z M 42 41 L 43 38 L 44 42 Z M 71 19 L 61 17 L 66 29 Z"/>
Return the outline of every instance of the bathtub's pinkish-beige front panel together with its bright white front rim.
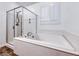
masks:
<path fill-rule="evenodd" d="M 48 42 L 22 37 L 15 38 L 13 46 L 14 51 L 20 56 L 79 56 L 77 52 L 61 49 Z"/>

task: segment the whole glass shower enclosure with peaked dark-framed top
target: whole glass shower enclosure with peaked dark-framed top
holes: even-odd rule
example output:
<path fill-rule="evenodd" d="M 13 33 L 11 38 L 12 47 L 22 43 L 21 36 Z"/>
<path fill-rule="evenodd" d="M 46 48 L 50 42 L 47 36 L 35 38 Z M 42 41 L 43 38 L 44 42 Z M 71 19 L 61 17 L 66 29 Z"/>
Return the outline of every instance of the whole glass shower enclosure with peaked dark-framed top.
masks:
<path fill-rule="evenodd" d="M 19 6 L 6 12 L 6 42 L 14 37 L 35 38 L 37 34 L 37 15 Z"/>

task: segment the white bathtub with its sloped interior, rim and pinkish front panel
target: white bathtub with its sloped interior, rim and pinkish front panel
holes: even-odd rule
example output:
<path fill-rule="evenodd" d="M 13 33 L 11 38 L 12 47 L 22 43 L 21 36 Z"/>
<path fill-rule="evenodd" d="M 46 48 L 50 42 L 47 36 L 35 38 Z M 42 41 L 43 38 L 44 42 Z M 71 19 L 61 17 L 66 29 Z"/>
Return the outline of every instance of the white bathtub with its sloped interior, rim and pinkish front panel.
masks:
<path fill-rule="evenodd" d="M 40 33 L 38 39 L 15 37 L 12 46 L 22 56 L 79 55 L 63 35 Z"/>

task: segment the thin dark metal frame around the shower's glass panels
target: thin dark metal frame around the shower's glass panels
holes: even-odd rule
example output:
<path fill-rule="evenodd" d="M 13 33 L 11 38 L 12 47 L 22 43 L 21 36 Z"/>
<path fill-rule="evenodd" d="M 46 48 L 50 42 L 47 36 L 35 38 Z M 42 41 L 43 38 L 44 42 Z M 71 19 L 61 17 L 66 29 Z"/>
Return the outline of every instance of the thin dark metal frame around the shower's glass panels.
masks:
<path fill-rule="evenodd" d="M 36 16 L 36 34 L 37 34 L 37 14 L 35 14 L 34 12 L 32 12 L 32 11 L 30 11 L 28 8 L 25 8 L 25 7 L 23 7 L 23 6 L 19 6 L 19 7 L 16 7 L 16 8 L 13 8 L 13 9 L 11 9 L 11 10 L 8 10 L 8 11 L 6 11 L 6 43 L 9 43 L 8 42 L 8 12 L 10 12 L 10 11 L 14 11 L 14 32 L 13 32 L 13 35 L 14 35 L 14 37 L 15 37 L 15 10 L 16 9 L 18 9 L 18 8 L 22 8 L 22 14 L 23 14 L 23 8 L 24 9 L 26 9 L 26 10 L 28 10 L 29 12 L 31 12 L 32 14 L 34 14 L 35 16 Z M 22 16 L 22 18 L 23 18 L 23 16 Z M 21 36 L 22 36 L 22 18 L 21 18 Z"/>

